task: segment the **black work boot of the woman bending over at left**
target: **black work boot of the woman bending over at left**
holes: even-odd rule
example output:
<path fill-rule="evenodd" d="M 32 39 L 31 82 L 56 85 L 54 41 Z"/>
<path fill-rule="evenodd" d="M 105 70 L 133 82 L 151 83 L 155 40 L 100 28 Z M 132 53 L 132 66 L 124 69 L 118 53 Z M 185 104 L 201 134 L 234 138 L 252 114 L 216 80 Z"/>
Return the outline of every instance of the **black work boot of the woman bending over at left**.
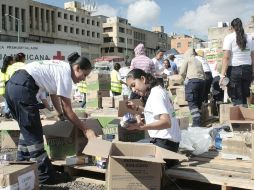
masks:
<path fill-rule="evenodd" d="M 63 172 L 63 173 L 56 172 L 53 176 L 50 176 L 50 178 L 47 179 L 42 184 L 56 185 L 56 184 L 59 184 L 59 183 L 67 183 L 71 180 L 72 180 L 72 178 L 68 173 L 66 173 L 66 172 Z"/>

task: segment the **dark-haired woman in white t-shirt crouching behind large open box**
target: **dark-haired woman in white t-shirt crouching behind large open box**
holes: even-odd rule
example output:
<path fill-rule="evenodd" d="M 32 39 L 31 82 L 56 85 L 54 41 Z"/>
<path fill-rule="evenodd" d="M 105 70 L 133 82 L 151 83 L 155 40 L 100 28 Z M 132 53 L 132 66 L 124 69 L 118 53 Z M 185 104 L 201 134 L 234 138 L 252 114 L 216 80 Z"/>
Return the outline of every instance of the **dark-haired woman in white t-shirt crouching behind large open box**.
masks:
<path fill-rule="evenodd" d="M 127 129 L 147 130 L 152 138 L 152 143 L 177 152 L 181 140 L 181 132 L 167 91 L 158 85 L 151 74 L 145 73 L 141 69 L 130 71 L 126 77 L 126 83 L 133 92 L 142 97 L 148 97 L 144 108 L 129 102 L 129 107 L 135 110 L 141 109 L 144 112 L 145 123 L 139 121 L 136 124 L 129 125 Z M 168 167 L 171 164 L 167 161 Z"/>

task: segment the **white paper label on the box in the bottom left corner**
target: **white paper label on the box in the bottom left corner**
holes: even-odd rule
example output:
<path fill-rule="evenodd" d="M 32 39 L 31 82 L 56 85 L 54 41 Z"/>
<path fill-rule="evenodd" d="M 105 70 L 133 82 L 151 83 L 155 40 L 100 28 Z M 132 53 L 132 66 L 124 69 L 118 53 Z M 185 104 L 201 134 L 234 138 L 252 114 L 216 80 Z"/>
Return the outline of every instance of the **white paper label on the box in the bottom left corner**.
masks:
<path fill-rule="evenodd" d="M 32 190 L 34 189 L 35 175 L 34 171 L 29 171 L 18 177 L 19 190 Z"/>

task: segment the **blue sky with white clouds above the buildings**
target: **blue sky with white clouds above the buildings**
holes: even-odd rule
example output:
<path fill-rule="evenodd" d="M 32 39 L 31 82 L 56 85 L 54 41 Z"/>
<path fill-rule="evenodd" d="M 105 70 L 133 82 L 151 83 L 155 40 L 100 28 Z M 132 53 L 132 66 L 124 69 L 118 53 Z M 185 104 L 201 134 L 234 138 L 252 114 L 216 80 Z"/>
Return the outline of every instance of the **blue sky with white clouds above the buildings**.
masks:
<path fill-rule="evenodd" d="M 64 6 L 68 0 L 38 0 Z M 71 1 L 71 0 L 70 0 Z M 231 22 L 239 17 L 244 24 L 254 16 L 254 0 L 77 0 L 96 2 L 93 15 L 127 18 L 135 27 L 151 30 L 164 26 L 166 33 L 195 35 L 206 38 L 208 28 L 218 22 Z"/>

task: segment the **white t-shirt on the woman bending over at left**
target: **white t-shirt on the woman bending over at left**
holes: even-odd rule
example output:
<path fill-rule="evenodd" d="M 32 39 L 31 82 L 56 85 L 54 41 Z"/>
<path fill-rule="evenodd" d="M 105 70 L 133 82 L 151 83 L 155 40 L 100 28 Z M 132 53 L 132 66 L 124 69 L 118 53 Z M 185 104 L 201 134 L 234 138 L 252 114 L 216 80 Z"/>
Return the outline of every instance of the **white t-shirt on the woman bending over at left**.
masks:
<path fill-rule="evenodd" d="M 72 78 L 69 63 L 59 60 L 34 61 L 24 69 L 33 77 L 39 91 L 71 98 Z"/>

